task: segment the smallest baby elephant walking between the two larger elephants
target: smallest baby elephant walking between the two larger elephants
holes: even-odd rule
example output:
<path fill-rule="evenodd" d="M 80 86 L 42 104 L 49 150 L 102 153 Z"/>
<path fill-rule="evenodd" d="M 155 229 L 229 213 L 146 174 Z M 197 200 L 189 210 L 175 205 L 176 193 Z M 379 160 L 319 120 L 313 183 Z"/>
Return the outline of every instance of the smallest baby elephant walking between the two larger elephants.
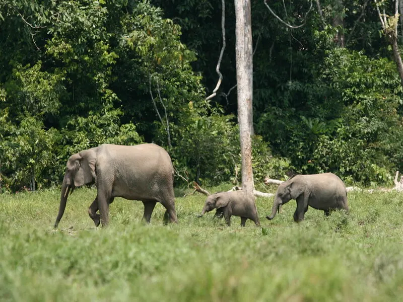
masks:
<path fill-rule="evenodd" d="M 206 212 L 217 209 L 216 216 L 220 217 L 222 213 L 227 225 L 231 225 L 231 216 L 240 216 L 241 225 L 245 226 L 246 219 L 260 226 L 259 217 L 257 215 L 254 196 L 248 196 L 243 191 L 218 192 L 207 197 L 205 206 L 198 217 L 203 216 Z"/>

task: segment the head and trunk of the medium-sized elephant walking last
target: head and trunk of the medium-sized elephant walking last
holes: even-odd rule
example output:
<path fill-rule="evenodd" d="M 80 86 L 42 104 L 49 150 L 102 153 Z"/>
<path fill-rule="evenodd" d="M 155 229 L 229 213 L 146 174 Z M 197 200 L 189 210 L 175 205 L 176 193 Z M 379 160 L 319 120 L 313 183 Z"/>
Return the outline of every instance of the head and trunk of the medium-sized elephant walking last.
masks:
<path fill-rule="evenodd" d="M 272 207 L 272 213 L 266 216 L 268 220 L 272 220 L 279 210 L 279 206 L 289 202 L 291 199 L 297 199 L 306 188 L 306 184 L 300 178 L 295 178 L 295 175 L 282 183 L 277 189 L 276 196 Z"/>

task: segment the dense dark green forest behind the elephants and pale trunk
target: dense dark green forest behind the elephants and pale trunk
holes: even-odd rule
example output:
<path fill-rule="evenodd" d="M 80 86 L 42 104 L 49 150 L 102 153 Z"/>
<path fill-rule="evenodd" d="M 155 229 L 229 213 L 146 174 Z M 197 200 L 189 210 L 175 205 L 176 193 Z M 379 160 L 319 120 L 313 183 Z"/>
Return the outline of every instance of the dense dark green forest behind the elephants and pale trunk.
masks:
<path fill-rule="evenodd" d="M 398 2 L 251 3 L 255 183 L 290 171 L 389 183 L 403 168 Z M 239 182 L 233 1 L 223 81 L 207 100 L 222 9 L 213 0 L 2 1 L 1 190 L 59 184 L 70 155 L 105 142 L 165 147 L 178 186 Z"/>

